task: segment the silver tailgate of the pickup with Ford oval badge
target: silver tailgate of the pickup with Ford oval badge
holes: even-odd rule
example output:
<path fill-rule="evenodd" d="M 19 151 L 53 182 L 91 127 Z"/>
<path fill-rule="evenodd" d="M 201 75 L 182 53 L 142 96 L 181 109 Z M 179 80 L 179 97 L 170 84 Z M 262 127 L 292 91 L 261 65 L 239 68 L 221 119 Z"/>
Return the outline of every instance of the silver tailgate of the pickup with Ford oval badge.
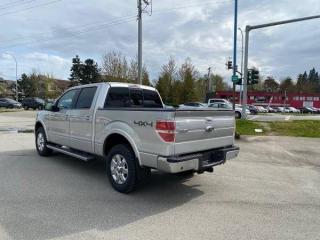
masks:
<path fill-rule="evenodd" d="M 175 155 L 233 145 L 232 110 L 177 110 Z"/>

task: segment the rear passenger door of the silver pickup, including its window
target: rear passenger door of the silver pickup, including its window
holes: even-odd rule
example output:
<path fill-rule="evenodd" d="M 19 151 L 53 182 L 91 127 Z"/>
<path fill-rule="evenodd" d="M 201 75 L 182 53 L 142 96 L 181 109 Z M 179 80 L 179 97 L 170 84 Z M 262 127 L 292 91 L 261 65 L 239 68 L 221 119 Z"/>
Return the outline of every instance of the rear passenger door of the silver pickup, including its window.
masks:
<path fill-rule="evenodd" d="M 93 152 L 93 116 L 97 86 L 81 88 L 74 109 L 70 111 L 70 147 Z"/>

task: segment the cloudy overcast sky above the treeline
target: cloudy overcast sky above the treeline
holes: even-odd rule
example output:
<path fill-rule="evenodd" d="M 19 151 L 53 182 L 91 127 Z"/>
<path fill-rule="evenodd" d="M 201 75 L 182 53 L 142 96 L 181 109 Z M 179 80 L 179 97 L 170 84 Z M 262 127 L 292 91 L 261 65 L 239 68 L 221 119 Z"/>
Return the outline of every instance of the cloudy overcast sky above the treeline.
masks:
<path fill-rule="evenodd" d="M 233 0 L 153 0 L 143 15 L 143 61 L 158 77 L 173 56 L 187 57 L 201 73 L 209 66 L 230 81 L 225 62 L 233 51 Z M 115 50 L 129 59 L 137 54 L 136 0 L 1 0 L 0 77 L 14 79 L 36 70 L 67 79 L 71 59 L 93 58 Z M 239 0 L 239 27 L 320 14 L 319 0 Z M 241 56 L 241 35 L 238 35 Z M 320 70 L 320 20 L 251 33 L 249 66 L 264 76 L 296 77 Z M 240 65 L 240 58 L 238 58 Z"/>

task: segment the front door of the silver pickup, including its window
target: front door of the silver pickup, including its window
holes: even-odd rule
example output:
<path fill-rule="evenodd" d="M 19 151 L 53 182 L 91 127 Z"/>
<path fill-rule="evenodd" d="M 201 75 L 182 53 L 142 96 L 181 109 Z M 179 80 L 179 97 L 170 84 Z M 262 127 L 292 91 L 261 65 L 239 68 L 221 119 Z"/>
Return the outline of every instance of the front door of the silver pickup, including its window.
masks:
<path fill-rule="evenodd" d="M 50 142 L 69 146 L 69 115 L 70 110 L 74 107 L 78 91 L 78 89 L 73 89 L 63 94 L 56 103 L 58 111 L 50 112 L 47 123 Z"/>

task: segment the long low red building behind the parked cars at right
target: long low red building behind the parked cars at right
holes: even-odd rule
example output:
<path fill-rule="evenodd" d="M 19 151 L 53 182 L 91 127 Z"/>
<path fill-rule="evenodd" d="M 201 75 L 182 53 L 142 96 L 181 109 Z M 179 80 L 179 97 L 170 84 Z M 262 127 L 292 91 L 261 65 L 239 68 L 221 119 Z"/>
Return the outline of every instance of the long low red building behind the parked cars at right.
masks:
<path fill-rule="evenodd" d="M 217 91 L 216 97 L 228 99 L 232 102 L 232 91 Z M 236 103 L 239 103 L 239 92 L 236 92 Z M 295 108 L 317 107 L 320 108 L 320 93 L 270 93 L 248 92 L 248 104 L 279 107 L 291 106 Z"/>

